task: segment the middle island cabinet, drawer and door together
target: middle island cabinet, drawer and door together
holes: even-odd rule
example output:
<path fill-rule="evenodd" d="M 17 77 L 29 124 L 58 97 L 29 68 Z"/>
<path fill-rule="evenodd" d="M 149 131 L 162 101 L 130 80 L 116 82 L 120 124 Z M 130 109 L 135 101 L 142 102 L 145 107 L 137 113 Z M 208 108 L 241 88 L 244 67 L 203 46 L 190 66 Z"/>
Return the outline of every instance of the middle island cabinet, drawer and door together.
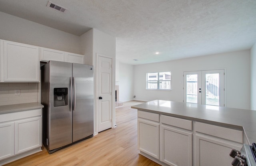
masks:
<path fill-rule="evenodd" d="M 192 166 L 192 121 L 160 115 L 160 161 Z"/>

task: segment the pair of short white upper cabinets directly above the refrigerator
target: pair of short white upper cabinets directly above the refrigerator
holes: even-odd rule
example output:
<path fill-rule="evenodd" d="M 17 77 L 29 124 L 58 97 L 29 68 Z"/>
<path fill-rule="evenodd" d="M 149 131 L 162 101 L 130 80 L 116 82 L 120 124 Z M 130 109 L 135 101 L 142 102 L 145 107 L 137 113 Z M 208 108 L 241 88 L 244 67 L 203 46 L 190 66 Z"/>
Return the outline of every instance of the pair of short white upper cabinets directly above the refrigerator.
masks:
<path fill-rule="evenodd" d="M 70 63 L 82 63 L 84 64 L 84 55 L 76 53 L 69 53 L 59 51 L 55 49 L 48 49 L 41 47 L 41 59 L 42 61 L 63 61 Z"/>

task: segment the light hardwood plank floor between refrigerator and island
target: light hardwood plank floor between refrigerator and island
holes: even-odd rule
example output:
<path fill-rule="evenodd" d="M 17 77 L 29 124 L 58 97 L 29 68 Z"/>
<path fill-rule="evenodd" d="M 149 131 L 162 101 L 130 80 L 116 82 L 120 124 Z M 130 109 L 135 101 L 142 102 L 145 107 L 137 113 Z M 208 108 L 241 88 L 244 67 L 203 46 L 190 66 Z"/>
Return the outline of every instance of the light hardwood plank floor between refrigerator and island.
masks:
<path fill-rule="evenodd" d="M 160 166 L 138 154 L 137 110 L 130 106 L 143 102 L 125 102 L 116 108 L 116 128 L 48 154 L 41 152 L 5 166 Z"/>

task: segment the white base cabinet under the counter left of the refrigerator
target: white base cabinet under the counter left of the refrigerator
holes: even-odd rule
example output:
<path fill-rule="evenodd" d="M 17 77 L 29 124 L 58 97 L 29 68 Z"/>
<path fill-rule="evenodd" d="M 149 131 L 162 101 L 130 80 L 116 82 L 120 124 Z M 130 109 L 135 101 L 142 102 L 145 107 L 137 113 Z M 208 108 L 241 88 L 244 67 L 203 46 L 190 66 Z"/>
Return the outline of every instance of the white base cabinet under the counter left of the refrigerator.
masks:
<path fill-rule="evenodd" d="M 41 151 L 42 109 L 0 114 L 0 165 Z"/>

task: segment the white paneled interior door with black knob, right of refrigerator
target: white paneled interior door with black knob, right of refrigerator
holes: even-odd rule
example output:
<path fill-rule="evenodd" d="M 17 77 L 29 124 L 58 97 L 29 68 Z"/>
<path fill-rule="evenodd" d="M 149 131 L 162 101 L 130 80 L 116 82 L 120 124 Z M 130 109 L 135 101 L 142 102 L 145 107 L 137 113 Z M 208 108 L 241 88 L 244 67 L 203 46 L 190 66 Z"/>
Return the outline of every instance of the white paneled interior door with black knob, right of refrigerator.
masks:
<path fill-rule="evenodd" d="M 112 127 L 112 59 L 98 56 L 98 132 Z"/>

